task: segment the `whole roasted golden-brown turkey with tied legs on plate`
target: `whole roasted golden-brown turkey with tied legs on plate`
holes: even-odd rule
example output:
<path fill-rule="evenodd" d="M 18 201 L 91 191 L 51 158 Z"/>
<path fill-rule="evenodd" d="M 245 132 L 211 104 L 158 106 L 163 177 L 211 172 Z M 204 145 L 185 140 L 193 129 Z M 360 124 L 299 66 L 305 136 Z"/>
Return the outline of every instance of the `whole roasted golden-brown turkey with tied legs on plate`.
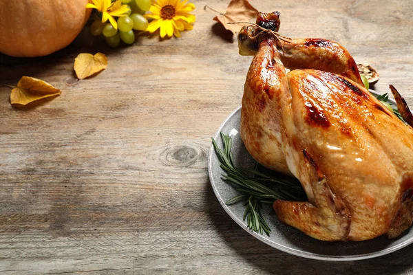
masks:
<path fill-rule="evenodd" d="M 308 201 L 274 203 L 277 217 L 324 241 L 399 236 L 413 221 L 413 118 L 399 120 L 363 86 L 357 65 L 326 39 L 278 34 L 279 12 L 238 35 L 254 55 L 240 135 L 263 166 L 293 175 Z M 286 73 L 286 68 L 290 72 Z"/>

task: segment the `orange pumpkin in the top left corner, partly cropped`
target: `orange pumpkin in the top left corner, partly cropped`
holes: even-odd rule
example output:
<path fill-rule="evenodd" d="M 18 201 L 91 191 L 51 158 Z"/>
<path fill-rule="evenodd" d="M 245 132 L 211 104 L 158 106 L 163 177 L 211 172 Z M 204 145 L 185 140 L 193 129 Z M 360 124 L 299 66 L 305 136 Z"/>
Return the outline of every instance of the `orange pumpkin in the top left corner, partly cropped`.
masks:
<path fill-rule="evenodd" d="M 0 0 L 0 52 L 45 56 L 61 50 L 81 32 L 88 0 Z"/>

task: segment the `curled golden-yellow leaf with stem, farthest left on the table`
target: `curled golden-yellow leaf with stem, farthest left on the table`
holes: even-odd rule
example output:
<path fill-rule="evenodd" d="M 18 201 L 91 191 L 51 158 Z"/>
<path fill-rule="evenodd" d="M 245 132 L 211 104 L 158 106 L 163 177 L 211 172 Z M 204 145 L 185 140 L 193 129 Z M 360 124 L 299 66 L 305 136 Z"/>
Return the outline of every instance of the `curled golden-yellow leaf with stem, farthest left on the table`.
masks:
<path fill-rule="evenodd" d="M 59 96 L 60 94 L 61 91 L 59 89 L 56 89 L 49 83 L 45 83 L 43 80 L 23 76 L 19 80 L 17 87 L 12 89 L 10 103 L 14 106 L 26 106 L 31 102 Z"/>

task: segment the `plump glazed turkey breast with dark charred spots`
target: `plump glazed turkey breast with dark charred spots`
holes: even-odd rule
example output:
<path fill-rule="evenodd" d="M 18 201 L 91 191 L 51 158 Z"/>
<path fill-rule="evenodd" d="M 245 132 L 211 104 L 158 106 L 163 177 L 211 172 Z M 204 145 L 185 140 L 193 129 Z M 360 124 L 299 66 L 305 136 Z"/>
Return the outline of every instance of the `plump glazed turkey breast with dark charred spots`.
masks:
<path fill-rule="evenodd" d="M 403 178 L 413 170 L 412 129 L 347 78 L 295 70 L 288 83 L 298 150 L 313 156 L 332 192 L 349 208 L 348 239 L 385 234 L 412 187 Z"/>

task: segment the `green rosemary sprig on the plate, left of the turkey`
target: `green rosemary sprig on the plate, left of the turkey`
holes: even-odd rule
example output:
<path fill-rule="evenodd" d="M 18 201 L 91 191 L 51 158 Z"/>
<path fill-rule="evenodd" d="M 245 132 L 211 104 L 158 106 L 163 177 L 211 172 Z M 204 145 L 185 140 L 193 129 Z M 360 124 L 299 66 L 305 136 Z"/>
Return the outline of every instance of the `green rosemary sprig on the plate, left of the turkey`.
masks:
<path fill-rule="evenodd" d="M 268 173 L 260 172 L 257 163 L 254 170 L 235 167 L 231 153 L 232 139 L 223 133 L 221 139 L 222 149 L 213 139 L 212 144 L 220 161 L 220 167 L 226 173 L 222 175 L 222 179 L 233 184 L 235 190 L 241 193 L 226 201 L 226 204 L 244 201 L 243 219 L 246 220 L 248 228 L 260 234 L 265 232 L 269 236 L 271 230 L 260 212 L 262 203 L 273 203 L 276 199 L 304 201 L 307 199 L 306 193 L 297 179 L 279 174 L 272 177 Z"/>

